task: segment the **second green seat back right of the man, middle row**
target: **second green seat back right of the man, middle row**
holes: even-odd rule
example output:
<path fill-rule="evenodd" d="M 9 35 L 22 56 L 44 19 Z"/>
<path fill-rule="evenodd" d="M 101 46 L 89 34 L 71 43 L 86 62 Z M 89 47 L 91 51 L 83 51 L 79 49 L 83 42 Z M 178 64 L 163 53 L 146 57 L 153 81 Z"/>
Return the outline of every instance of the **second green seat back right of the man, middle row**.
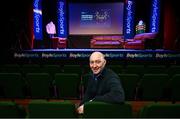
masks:
<path fill-rule="evenodd" d="M 163 93 L 168 81 L 168 74 L 144 74 L 139 82 L 139 89 L 142 91 L 140 99 L 150 101 L 163 100 Z"/>

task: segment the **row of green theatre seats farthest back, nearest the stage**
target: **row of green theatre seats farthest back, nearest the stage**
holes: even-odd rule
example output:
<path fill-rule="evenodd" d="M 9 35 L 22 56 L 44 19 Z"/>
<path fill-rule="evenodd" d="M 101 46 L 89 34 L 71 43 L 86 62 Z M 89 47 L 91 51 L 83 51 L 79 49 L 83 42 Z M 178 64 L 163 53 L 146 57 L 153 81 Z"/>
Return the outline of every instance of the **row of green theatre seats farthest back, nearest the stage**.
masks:
<path fill-rule="evenodd" d="M 116 73 L 135 73 L 139 75 L 143 74 L 160 74 L 165 73 L 170 76 L 180 73 L 180 65 L 158 65 L 154 64 L 107 64 L 109 68 L 114 70 Z M 78 73 L 79 75 L 86 74 L 90 71 L 89 66 L 85 65 L 60 65 L 60 64 L 4 64 L 0 65 L 1 73 L 49 73 L 54 75 L 55 73 Z"/>

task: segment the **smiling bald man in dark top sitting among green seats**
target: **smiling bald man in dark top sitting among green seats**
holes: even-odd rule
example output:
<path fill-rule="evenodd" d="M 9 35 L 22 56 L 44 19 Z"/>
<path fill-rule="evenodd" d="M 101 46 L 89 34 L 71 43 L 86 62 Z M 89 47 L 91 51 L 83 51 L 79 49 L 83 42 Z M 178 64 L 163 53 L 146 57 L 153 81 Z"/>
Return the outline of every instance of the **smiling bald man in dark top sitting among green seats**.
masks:
<path fill-rule="evenodd" d="M 122 103 L 125 100 L 124 90 L 120 79 L 112 70 L 105 68 L 105 56 L 101 52 L 93 52 L 89 58 L 92 75 L 77 112 L 83 114 L 84 103 L 102 101 L 108 103 Z"/>

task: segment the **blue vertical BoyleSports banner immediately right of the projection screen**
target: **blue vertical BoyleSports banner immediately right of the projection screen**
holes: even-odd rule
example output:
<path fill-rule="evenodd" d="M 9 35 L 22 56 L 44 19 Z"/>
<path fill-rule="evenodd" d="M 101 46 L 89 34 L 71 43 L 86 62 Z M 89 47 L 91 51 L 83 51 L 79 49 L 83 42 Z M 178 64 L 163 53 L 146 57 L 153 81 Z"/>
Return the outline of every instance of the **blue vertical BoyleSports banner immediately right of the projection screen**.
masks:
<path fill-rule="evenodd" d="M 134 1 L 128 0 L 126 3 L 126 16 L 125 16 L 125 38 L 134 37 Z"/>

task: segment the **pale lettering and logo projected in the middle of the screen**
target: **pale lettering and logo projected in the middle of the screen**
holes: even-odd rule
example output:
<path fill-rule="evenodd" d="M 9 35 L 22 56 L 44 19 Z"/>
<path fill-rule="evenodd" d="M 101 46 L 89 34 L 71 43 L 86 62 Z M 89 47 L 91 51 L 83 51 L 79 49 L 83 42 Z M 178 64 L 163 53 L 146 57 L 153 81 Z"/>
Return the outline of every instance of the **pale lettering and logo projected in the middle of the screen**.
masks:
<path fill-rule="evenodd" d="M 81 12 L 81 27 L 110 27 L 110 9 L 101 9 L 93 12 Z"/>

